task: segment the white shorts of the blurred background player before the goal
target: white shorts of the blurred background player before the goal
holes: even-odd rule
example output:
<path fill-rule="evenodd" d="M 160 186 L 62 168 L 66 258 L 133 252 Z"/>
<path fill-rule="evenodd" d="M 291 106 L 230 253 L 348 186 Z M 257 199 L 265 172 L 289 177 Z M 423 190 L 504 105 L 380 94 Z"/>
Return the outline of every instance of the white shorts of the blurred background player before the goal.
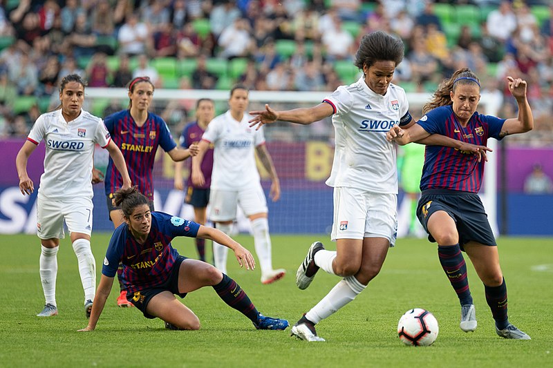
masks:
<path fill-rule="evenodd" d="M 246 217 L 256 213 L 267 213 L 267 198 L 261 184 L 240 191 L 212 189 L 209 193 L 209 220 L 214 222 L 236 220 L 237 205 Z"/>

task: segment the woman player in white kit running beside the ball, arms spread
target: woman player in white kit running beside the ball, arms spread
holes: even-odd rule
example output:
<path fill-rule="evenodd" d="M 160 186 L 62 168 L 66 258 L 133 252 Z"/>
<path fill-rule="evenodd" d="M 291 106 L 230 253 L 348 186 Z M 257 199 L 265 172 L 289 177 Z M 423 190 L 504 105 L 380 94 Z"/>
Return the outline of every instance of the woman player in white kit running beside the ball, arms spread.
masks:
<path fill-rule="evenodd" d="M 324 341 L 315 324 L 344 307 L 361 293 L 379 273 L 395 242 L 397 229 L 397 166 L 395 146 L 386 141 L 391 126 L 411 122 L 405 92 L 391 84 L 395 67 L 403 59 L 404 46 L 378 31 L 365 35 L 357 50 L 355 66 L 363 77 L 350 86 L 340 86 L 321 104 L 311 108 L 275 111 L 265 105 L 250 126 L 279 121 L 311 124 L 332 115 L 335 155 L 326 184 L 334 187 L 332 240 L 336 251 L 311 244 L 300 265 L 296 283 L 306 289 L 319 268 L 343 279 L 292 327 L 302 340 Z M 460 141 L 431 136 L 421 142 L 478 151 Z"/>

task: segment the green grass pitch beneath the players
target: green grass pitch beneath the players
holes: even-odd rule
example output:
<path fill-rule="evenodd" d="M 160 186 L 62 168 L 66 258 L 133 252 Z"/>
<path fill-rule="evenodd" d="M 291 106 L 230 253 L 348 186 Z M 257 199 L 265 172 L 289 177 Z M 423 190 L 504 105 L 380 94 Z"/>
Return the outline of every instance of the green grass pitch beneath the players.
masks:
<path fill-rule="evenodd" d="M 253 251 L 252 238 L 238 241 Z M 333 244 L 326 235 L 328 248 Z M 316 236 L 273 236 L 274 266 L 288 275 L 262 285 L 259 268 L 244 271 L 229 255 L 229 274 L 262 313 L 294 323 L 339 280 L 319 272 L 306 291 L 294 275 Z M 102 264 L 109 235 L 93 235 L 93 253 Z M 114 287 L 97 329 L 86 326 L 77 260 L 69 241 L 58 253 L 59 316 L 37 318 L 44 304 L 38 272 L 39 242 L 32 235 L 0 235 L 0 367 L 552 367 L 553 240 L 500 238 L 500 260 L 509 289 L 509 318 L 532 336 L 530 341 L 496 336 L 482 283 L 469 266 L 478 329 L 459 329 L 458 301 L 440 268 L 435 246 L 425 240 L 399 240 L 380 275 L 366 291 L 317 325 L 326 338 L 308 343 L 290 331 L 256 331 L 226 306 L 211 288 L 183 302 L 202 322 L 200 331 L 167 331 L 136 309 L 118 309 Z M 194 256 L 190 239 L 174 246 Z M 211 257 L 211 253 L 209 253 Z M 469 262 L 467 262 L 469 263 Z M 547 266 L 535 267 L 547 264 Z M 100 269 L 97 270 L 100 275 Z M 413 307 L 429 309 L 440 334 L 431 347 L 406 347 L 397 338 L 400 316 Z"/>

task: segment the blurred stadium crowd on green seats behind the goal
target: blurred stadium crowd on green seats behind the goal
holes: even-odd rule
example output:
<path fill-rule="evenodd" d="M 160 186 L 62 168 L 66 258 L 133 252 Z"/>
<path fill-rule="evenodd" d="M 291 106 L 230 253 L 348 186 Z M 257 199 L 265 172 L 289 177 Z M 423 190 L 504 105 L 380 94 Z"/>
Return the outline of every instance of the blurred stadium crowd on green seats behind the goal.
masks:
<path fill-rule="evenodd" d="M 406 46 L 394 83 L 431 92 L 454 70 L 516 101 L 506 75 L 528 81 L 535 115 L 527 143 L 553 142 L 553 5 L 543 0 L 46 0 L 0 1 L 0 137 L 26 137 L 58 104 L 59 78 L 124 87 L 335 90 L 359 77 L 362 35 L 384 30 Z M 198 96 L 200 98 L 201 96 Z M 100 115 L 121 106 L 104 106 Z M 167 123 L 192 116 L 156 108 Z M 330 134 L 330 132 L 328 132 Z"/>

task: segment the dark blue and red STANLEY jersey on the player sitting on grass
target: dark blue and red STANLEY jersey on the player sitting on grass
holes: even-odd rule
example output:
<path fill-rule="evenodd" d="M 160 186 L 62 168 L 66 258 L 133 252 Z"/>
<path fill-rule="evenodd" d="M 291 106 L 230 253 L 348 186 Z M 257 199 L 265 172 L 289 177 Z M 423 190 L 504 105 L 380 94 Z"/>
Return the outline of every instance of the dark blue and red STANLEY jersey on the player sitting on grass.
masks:
<path fill-rule="evenodd" d="M 102 275 L 115 277 L 123 264 L 122 282 L 128 293 L 163 284 L 169 278 L 178 256 L 171 246 L 177 236 L 196 238 L 200 224 L 167 213 L 151 213 L 151 229 L 144 244 L 139 244 L 126 223 L 111 235 Z"/>

